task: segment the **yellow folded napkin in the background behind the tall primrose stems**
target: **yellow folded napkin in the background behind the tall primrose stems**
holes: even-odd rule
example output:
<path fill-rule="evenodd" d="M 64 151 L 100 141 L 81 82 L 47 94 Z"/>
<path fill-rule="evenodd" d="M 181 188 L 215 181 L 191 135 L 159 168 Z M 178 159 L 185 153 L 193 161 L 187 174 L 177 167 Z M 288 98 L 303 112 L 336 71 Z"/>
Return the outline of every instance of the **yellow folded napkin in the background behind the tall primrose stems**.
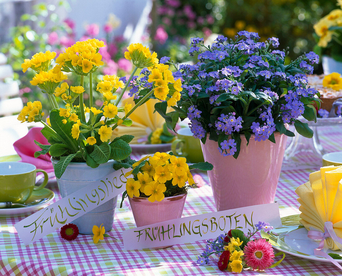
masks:
<path fill-rule="evenodd" d="M 134 107 L 135 103 L 133 97 L 129 97 L 122 101 L 122 105 L 125 103 L 132 104 Z M 132 120 L 131 126 L 119 125 L 113 130 L 113 139 L 115 137 L 122 136 L 124 134 L 130 134 L 134 136 L 132 144 L 138 144 L 147 141 L 148 135 L 154 132 L 156 129 L 161 128 L 165 123 L 165 119 L 156 111 L 154 112 L 155 103 L 159 102 L 157 99 L 149 99 L 143 105 L 138 107 L 130 116 Z M 153 113 L 154 112 L 154 113 Z"/>

